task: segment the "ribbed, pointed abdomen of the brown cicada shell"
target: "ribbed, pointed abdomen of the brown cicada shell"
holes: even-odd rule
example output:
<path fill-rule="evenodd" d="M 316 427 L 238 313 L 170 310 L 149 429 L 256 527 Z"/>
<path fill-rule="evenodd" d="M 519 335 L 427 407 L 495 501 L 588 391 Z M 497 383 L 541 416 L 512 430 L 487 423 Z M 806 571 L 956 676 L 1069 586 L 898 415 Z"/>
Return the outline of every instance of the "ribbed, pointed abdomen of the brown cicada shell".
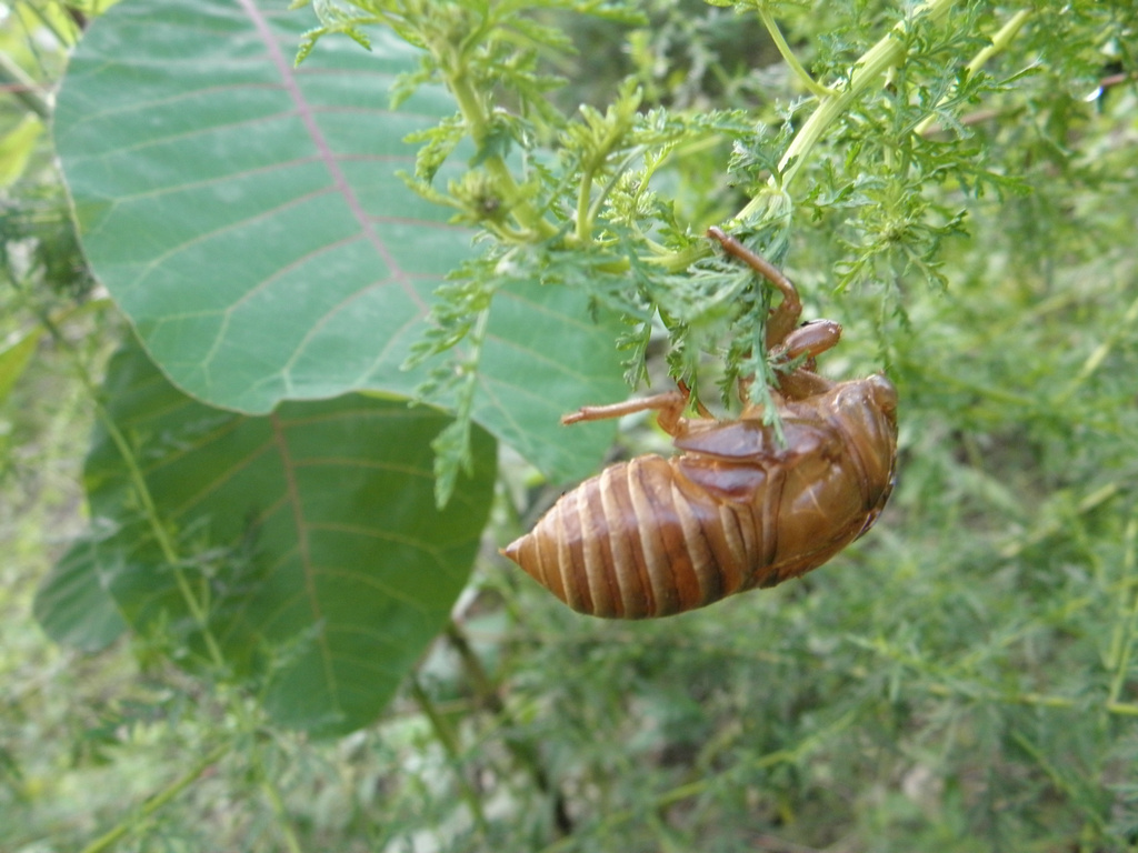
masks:
<path fill-rule="evenodd" d="M 674 463 L 609 466 L 503 553 L 595 616 L 666 616 L 740 591 L 774 557 L 776 510 L 717 499 Z"/>

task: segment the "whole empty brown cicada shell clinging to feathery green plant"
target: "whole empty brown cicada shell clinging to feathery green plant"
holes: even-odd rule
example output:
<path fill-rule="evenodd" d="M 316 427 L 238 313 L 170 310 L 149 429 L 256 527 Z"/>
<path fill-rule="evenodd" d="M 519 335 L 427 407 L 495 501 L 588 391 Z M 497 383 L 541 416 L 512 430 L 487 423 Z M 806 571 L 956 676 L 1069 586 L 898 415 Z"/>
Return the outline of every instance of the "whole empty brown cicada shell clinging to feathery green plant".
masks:
<path fill-rule="evenodd" d="M 801 303 L 782 273 L 720 230 L 708 233 L 782 291 L 768 348 L 807 356 L 772 389 L 785 442 L 757 406 L 734 421 L 683 417 L 683 388 L 562 419 L 655 409 L 681 450 L 609 466 L 503 549 L 582 613 L 667 616 L 797 578 L 873 527 L 892 490 L 892 383 L 882 375 L 832 382 L 815 373 L 814 358 L 838 342 L 841 326 L 823 320 L 798 328 Z"/>

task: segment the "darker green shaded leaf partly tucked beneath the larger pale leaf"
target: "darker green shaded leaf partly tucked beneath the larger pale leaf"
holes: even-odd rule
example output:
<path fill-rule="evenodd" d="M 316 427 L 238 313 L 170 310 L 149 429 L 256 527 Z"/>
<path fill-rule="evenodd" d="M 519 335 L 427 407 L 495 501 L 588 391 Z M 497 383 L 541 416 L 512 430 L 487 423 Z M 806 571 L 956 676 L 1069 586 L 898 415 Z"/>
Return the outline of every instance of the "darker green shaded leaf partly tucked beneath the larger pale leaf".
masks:
<path fill-rule="evenodd" d="M 41 588 L 44 627 L 94 648 L 125 620 L 208 659 L 189 590 L 224 664 L 263 685 L 279 721 L 338 734 L 373 720 L 467 582 L 494 439 L 473 431 L 473 475 L 440 512 L 430 441 L 448 419 L 434 409 L 349 394 L 224 412 L 171 386 L 138 347 L 115 357 L 107 394 L 175 553 L 100 431 L 85 467 L 93 535 Z"/>

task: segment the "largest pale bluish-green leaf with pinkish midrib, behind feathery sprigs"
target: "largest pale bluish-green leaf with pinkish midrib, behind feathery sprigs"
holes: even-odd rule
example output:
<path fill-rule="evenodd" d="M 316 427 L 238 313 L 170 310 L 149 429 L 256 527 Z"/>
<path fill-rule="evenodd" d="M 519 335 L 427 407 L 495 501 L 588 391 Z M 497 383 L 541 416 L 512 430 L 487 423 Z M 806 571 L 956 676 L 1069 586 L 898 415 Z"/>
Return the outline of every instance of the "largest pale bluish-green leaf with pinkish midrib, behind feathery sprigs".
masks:
<path fill-rule="evenodd" d="M 88 258 L 163 372 L 262 414 L 349 390 L 411 395 L 399 365 L 471 232 L 396 177 L 407 133 L 454 113 L 427 86 L 387 108 L 418 53 L 321 40 L 279 0 L 131 0 L 72 58 L 55 133 Z M 439 181 L 447 180 L 447 171 Z M 454 174 L 452 169 L 450 174 Z M 537 282 L 495 299 L 476 419 L 549 475 L 587 473 L 611 424 L 558 416 L 625 394 L 613 329 Z"/>

